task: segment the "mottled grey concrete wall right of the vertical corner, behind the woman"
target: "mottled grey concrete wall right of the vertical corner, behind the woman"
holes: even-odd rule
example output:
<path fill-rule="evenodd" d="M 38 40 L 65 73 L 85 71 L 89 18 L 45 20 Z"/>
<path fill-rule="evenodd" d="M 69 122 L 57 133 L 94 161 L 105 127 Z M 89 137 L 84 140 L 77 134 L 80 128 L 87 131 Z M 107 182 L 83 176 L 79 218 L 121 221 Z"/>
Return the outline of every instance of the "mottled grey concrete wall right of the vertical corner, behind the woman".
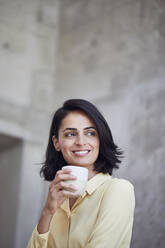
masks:
<path fill-rule="evenodd" d="M 61 4 L 59 96 L 93 100 L 125 151 L 115 174 L 135 186 L 132 248 L 165 247 L 164 24 L 163 0 Z"/>

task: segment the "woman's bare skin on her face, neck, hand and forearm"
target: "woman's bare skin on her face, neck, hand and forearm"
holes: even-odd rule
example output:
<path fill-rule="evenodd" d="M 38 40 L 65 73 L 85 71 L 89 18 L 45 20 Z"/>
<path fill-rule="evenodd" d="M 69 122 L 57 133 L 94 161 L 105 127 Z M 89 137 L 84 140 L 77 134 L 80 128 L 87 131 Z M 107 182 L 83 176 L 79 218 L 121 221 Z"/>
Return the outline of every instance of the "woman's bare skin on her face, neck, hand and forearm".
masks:
<path fill-rule="evenodd" d="M 68 165 L 88 169 L 88 179 L 95 176 L 94 162 L 99 154 L 99 137 L 94 123 L 82 111 L 72 111 L 61 122 L 58 138 L 52 137 L 54 148 L 61 151 Z M 59 170 L 49 185 L 48 197 L 37 226 L 39 233 L 49 230 L 51 219 L 56 210 L 69 197 L 70 208 L 76 201 L 76 191 L 67 180 L 75 180 L 70 169 Z"/>

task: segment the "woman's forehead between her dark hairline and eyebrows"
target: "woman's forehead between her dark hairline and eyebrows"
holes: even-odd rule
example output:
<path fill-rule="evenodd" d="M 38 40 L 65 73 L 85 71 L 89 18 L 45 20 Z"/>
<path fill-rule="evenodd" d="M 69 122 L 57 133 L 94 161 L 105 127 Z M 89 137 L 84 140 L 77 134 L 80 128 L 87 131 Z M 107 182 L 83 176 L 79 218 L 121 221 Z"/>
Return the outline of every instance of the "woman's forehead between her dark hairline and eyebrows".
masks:
<path fill-rule="evenodd" d="M 60 129 L 63 128 L 85 128 L 93 126 L 95 127 L 94 123 L 90 120 L 88 115 L 86 115 L 82 111 L 74 110 L 70 112 L 61 122 Z"/>

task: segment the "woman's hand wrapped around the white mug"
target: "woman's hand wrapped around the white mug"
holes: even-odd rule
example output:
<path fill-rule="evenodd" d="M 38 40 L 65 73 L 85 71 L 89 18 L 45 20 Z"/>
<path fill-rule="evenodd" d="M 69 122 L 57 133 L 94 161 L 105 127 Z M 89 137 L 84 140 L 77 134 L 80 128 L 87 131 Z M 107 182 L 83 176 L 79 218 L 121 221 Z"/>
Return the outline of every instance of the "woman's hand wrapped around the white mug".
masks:
<path fill-rule="evenodd" d="M 67 197 L 75 197 L 73 193 L 76 188 L 66 182 L 75 179 L 76 177 L 71 175 L 70 169 L 59 170 L 56 173 L 54 180 L 49 185 L 48 197 L 44 207 L 47 213 L 53 215 Z"/>

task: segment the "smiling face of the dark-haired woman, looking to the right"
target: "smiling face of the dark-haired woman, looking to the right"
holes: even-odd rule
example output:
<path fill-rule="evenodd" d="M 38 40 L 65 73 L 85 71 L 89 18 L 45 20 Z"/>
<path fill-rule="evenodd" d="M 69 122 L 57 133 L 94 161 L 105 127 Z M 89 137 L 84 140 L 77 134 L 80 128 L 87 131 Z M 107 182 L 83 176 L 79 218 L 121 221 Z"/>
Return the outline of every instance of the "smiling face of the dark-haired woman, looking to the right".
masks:
<path fill-rule="evenodd" d="M 99 137 L 94 123 L 82 111 L 72 111 L 62 120 L 58 139 L 53 136 L 53 143 L 68 165 L 94 167 Z"/>

